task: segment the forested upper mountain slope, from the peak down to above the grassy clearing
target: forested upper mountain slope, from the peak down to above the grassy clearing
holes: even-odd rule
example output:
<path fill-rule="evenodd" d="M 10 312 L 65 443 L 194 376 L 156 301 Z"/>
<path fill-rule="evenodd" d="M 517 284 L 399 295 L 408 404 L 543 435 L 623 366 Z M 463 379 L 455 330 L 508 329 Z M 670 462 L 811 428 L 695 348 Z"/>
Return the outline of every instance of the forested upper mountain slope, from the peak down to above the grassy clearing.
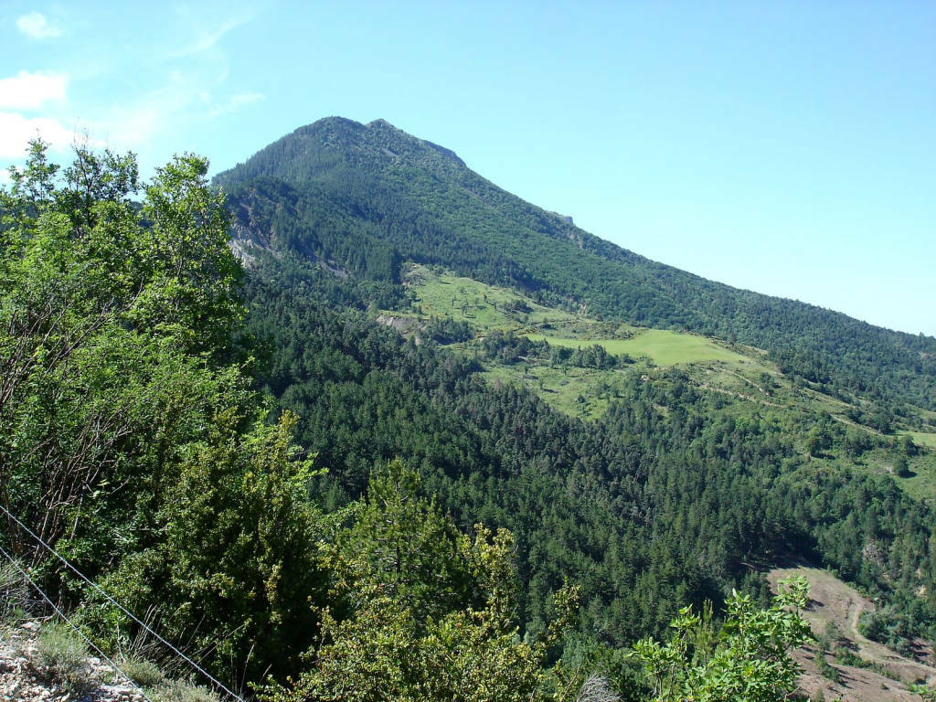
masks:
<path fill-rule="evenodd" d="M 384 121 L 320 120 L 215 183 L 231 196 L 239 238 L 369 279 L 383 290 L 382 306 L 402 261 L 439 264 L 569 309 L 753 344 L 784 373 L 898 407 L 936 409 L 936 340 L 637 256 Z"/>

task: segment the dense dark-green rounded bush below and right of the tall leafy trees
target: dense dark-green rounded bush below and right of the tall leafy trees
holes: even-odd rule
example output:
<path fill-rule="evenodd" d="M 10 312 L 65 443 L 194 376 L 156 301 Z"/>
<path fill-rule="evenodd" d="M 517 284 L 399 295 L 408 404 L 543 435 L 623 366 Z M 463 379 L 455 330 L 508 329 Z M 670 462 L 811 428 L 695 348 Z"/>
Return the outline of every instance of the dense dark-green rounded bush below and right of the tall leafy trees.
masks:
<path fill-rule="evenodd" d="M 161 490 L 161 538 L 105 582 L 227 675 L 295 674 L 329 585 L 320 552 L 327 527 L 304 499 L 314 472 L 295 460 L 294 423 L 285 414 L 243 431 L 241 417 L 215 417 Z"/>

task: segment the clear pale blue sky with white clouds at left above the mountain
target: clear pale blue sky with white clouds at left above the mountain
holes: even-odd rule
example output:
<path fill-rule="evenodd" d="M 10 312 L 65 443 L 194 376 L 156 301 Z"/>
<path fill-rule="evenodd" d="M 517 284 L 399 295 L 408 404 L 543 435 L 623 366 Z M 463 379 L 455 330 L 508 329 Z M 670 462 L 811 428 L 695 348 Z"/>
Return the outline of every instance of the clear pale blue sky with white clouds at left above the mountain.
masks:
<path fill-rule="evenodd" d="M 139 6 L 139 7 L 136 7 Z M 936 335 L 936 3 L 0 1 L 0 163 L 383 118 L 729 285 Z"/>

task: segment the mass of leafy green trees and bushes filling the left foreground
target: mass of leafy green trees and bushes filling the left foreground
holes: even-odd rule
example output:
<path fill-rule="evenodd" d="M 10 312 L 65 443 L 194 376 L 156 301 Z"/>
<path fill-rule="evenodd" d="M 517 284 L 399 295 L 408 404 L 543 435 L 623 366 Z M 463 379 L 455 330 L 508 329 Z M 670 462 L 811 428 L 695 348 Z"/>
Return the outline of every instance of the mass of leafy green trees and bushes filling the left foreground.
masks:
<path fill-rule="evenodd" d="M 165 636 L 235 676 L 287 675 L 314 636 L 328 527 L 316 473 L 268 425 L 237 334 L 241 268 L 207 162 L 145 186 L 132 156 L 40 142 L 2 192 L 0 503 Z M 3 534 L 99 640 L 137 626 Z"/>

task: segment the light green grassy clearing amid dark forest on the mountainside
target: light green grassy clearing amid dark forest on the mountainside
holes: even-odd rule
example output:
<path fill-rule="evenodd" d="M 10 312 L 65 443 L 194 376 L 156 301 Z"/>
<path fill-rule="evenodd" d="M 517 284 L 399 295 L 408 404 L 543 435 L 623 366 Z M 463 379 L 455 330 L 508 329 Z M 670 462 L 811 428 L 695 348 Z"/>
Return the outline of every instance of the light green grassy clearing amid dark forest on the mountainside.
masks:
<path fill-rule="evenodd" d="M 729 348 L 707 337 L 667 329 L 602 322 L 540 305 L 505 287 L 424 266 L 413 266 L 406 275 L 406 283 L 414 295 L 412 308 L 389 314 L 419 319 L 449 317 L 467 322 L 479 336 L 494 330 L 510 330 L 554 346 L 578 348 L 597 344 L 611 355 L 638 359 L 626 369 L 607 371 L 552 367 L 536 361 L 516 364 L 485 361 L 483 375 L 489 382 L 521 385 L 573 417 L 601 417 L 629 374 L 656 376 L 653 367 L 672 366 L 683 367 L 696 386 L 721 393 L 728 402 L 738 402 L 739 414 L 750 412 L 755 405 L 769 405 L 793 412 L 828 412 L 841 418 L 847 409 L 845 403 L 815 390 L 794 388 L 757 349 Z M 470 344 L 453 344 L 451 349 L 456 353 L 475 353 Z M 914 441 L 921 446 L 936 446 L 936 434 L 915 434 Z M 887 471 L 884 462 L 871 462 L 869 470 Z M 930 487 L 936 486 L 936 460 L 933 465 L 930 461 L 916 462 L 917 475 L 902 478 L 901 485 L 912 494 L 932 499 L 936 497 L 936 488 Z"/>

